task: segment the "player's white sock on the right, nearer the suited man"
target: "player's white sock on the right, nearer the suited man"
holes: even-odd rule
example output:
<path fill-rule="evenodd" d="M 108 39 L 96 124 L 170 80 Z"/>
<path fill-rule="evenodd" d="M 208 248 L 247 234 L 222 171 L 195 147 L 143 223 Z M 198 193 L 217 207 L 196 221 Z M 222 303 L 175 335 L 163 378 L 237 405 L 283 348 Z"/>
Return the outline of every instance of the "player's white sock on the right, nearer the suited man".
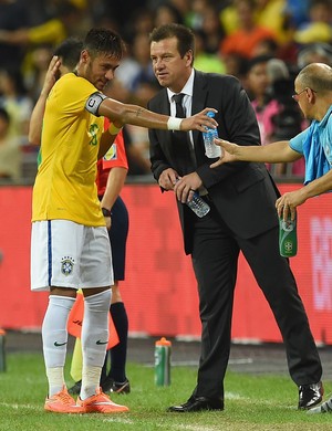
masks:
<path fill-rule="evenodd" d="M 100 387 L 102 367 L 108 344 L 108 313 L 111 290 L 84 298 L 82 326 L 82 400 L 95 395 Z"/>

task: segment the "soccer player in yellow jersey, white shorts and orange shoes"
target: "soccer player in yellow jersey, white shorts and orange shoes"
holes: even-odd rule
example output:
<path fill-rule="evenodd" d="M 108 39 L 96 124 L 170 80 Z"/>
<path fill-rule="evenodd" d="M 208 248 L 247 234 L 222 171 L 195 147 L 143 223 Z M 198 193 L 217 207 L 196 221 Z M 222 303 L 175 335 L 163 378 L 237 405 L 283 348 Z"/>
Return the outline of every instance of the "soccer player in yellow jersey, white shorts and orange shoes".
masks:
<path fill-rule="evenodd" d="M 45 105 L 41 164 L 32 197 L 31 290 L 50 292 L 42 325 L 49 411 L 128 411 L 127 407 L 112 402 L 100 388 L 114 280 L 95 183 L 97 159 L 108 150 L 125 123 L 200 132 L 217 124 L 206 116 L 210 108 L 181 119 L 105 96 L 102 90 L 113 78 L 123 52 L 123 41 L 115 32 L 90 30 L 75 73 L 65 74 L 54 84 Z M 105 133 L 103 116 L 112 122 Z M 63 367 L 66 322 L 80 287 L 84 295 L 83 370 L 75 402 L 68 393 Z"/>

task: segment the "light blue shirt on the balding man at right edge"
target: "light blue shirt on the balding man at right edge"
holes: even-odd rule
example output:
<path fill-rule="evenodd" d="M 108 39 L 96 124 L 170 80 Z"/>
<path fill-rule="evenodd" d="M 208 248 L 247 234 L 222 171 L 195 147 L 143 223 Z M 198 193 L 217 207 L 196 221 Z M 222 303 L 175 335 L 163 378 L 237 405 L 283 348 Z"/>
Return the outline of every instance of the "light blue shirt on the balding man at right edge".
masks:
<path fill-rule="evenodd" d="M 332 106 L 321 122 L 313 120 L 289 143 L 290 147 L 304 156 L 304 185 L 322 177 L 332 169 Z"/>

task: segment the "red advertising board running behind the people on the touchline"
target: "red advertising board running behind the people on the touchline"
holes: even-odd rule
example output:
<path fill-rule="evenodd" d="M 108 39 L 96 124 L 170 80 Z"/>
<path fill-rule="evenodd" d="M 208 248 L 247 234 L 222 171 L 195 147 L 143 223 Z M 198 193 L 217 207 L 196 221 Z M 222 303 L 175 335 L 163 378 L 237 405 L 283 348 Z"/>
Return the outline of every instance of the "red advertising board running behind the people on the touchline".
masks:
<path fill-rule="evenodd" d="M 281 192 L 298 187 L 279 183 Z M 46 307 L 46 293 L 29 290 L 31 190 L 29 186 L 0 188 L 0 327 L 3 328 L 39 329 Z M 136 183 L 126 185 L 122 196 L 131 214 L 126 281 L 122 288 L 131 336 L 197 339 L 200 334 L 197 288 L 190 259 L 183 252 L 173 193 L 162 195 L 156 185 Z M 298 214 L 299 252 L 291 259 L 319 345 L 332 345 L 331 225 L 329 195 L 302 206 Z M 232 339 L 251 344 L 281 341 L 271 311 L 242 256 Z"/>

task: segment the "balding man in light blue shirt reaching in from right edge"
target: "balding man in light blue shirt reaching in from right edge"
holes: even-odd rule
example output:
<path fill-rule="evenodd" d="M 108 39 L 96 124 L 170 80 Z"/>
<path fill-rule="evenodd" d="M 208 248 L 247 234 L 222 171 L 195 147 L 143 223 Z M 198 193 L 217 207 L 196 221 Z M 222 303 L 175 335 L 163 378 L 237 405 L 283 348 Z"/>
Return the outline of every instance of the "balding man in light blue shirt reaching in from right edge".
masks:
<path fill-rule="evenodd" d="M 224 149 L 218 161 L 225 162 L 262 161 L 281 162 L 305 159 L 304 186 L 284 193 L 276 201 L 279 217 L 284 220 L 295 218 L 295 209 L 307 199 L 332 190 L 332 69 L 323 63 L 311 63 L 300 71 L 294 82 L 293 98 L 298 102 L 310 127 L 290 140 L 281 140 L 266 146 L 239 146 L 216 139 Z M 332 412 L 332 398 L 310 413 Z"/>

